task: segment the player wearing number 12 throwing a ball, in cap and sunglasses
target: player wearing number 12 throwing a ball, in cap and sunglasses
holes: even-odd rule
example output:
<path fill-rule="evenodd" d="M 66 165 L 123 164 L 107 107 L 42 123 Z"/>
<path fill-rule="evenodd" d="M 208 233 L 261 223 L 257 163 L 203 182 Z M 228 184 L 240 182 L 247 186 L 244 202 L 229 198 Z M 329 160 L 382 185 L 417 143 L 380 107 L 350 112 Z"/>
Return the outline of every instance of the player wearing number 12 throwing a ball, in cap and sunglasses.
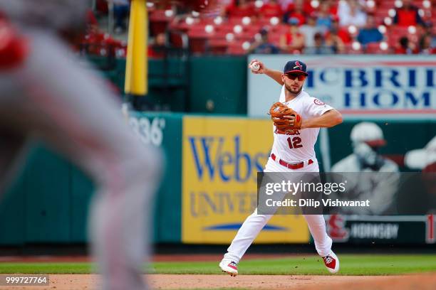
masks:
<path fill-rule="evenodd" d="M 285 118 L 289 120 L 291 127 L 299 124 L 299 129 L 285 131 L 279 129 L 274 122 L 274 144 L 264 172 L 319 172 L 314 150 L 319 129 L 340 124 L 341 113 L 303 90 L 308 73 L 306 64 L 301 60 L 286 63 L 283 73 L 266 68 L 259 60 L 251 60 L 249 67 L 251 65 L 259 68 L 257 71 L 251 70 L 253 73 L 268 75 L 282 85 L 279 101 L 297 113 Z M 246 218 L 219 263 L 223 272 L 231 276 L 238 274 L 237 264 L 271 217 L 272 215 L 257 214 L 256 209 Z M 323 258 L 328 271 L 338 272 L 339 259 L 331 250 L 332 240 L 327 235 L 323 215 L 304 215 L 304 218 L 315 242 L 316 251 Z"/>

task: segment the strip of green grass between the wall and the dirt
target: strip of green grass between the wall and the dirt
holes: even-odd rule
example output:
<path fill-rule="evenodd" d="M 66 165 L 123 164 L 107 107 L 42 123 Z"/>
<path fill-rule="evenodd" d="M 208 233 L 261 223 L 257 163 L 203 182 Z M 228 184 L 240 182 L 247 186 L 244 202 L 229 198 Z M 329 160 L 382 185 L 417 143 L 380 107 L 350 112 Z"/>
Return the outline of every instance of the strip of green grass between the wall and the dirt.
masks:
<path fill-rule="evenodd" d="M 343 254 L 341 275 L 395 275 L 436 272 L 436 255 L 432 254 Z M 221 274 L 215 262 L 155 262 L 153 274 Z M 0 263 L 0 274 L 90 274 L 90 263 Z M 239 274 L 257 275 L 328 275 L 318 256 L 283 259 L 243 260 Z"/>

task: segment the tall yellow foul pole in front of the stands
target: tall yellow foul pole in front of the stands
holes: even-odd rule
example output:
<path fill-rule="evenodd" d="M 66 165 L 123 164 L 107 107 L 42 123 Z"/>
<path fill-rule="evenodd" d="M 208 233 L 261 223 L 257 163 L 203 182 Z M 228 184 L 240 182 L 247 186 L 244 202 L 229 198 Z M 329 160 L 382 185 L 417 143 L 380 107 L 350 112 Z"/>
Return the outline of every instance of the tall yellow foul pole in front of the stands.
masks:
<path fill-rule="evenodd" d="M 132 0 L 128 52 L 125 64 L 125 93 L 128 95 L 147 95 L 147 1 Z"/>

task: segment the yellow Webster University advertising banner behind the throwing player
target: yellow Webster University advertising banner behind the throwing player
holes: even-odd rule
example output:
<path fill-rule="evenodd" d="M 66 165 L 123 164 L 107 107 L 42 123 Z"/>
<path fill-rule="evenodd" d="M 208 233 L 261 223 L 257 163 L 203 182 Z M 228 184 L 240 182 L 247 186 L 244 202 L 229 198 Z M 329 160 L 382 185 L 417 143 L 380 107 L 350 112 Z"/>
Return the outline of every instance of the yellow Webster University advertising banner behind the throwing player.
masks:
<path fill-rule="evenodd" d="M 256 208 L 257 172 L 273 141 L 269 120 L 183 118 L 182 242 L 228 244 Z M 301 215 L 276 215 L 256 242 L 308 242 Z"/>

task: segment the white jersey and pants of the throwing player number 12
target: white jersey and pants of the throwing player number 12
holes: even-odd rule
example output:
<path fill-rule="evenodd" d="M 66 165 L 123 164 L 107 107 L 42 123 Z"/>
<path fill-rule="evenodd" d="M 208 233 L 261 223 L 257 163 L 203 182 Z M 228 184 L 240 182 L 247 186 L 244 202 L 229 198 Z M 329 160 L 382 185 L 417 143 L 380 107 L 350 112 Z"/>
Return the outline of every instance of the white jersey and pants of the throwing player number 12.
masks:
<path fill-rule="evenodd" d="M 284 86 L 281 89 L 279 102 L 283 102 L 294 111 L 298 112 L 303 119 L 318 117 L 325 112 L 333 109 L 328 104 L 311 97 L 307 92 L 301 90 L 293 100 L 285 102 Z M 264 172 L 319 172 L 318 161 L 315 156 L 315 143 L 318 138 L 319 128 L 309 128 L 296 130 L 293 134 L 279 134 L 274 129 L 274 144 L 271 150 L 271 156 L 274 154 L 275 161 L 271 158 L 266 163 Z M 301 163 L 303 167 L 299 169 L 290 169 L 279 164 L 279 159 L 287 163 Z M 249 215 L 237 232 L 232 244 L 224 254 L 224 259 L 231 259 L 238 263 L 251 245 L 261 229 L 272 215 L 258 215 L 257 209 Z M 326 222 L 323 215 L 304 215 L 308 228 L 315 242 L 316 251 L 323 257 L 330 254 L 332 240 L 326 232 Z"/>

